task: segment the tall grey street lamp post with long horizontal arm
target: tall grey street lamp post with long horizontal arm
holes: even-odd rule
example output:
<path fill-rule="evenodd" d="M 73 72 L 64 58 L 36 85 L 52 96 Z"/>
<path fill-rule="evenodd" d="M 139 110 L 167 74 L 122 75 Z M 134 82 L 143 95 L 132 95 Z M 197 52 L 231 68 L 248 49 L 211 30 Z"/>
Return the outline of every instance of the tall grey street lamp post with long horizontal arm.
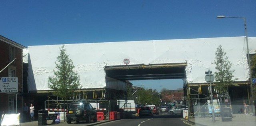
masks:
<path fill-rule="evenodd" d="M 246 38 L 246 45 L 247 45 L 247 61 L 249 65 L 249 73 L 250 73 L 250 88 L 251 88 L 251 95 L 252 95 L 252 102 L 254 102 L 254 96 L 252 91 L 252 71 L 251 71 L 251 63 L 250 63 L 250 53 L 249 53 L 249 46 L 248 46 L 248 36 L 247 36 L 247 27 L 246 27 L 246 19 L 245 17 L 228 17 L 228 16 L 217 16 L 218 19 L 221 18 L 242 18 L 244 19 L 244 32 L 245 32 L 245 38 Z M 254 107 L 253 107 L 254 108 Z M 253 112 L 255 110 L 253 109 Z M 254 112 L 255 113 L 255 112 Z"/>

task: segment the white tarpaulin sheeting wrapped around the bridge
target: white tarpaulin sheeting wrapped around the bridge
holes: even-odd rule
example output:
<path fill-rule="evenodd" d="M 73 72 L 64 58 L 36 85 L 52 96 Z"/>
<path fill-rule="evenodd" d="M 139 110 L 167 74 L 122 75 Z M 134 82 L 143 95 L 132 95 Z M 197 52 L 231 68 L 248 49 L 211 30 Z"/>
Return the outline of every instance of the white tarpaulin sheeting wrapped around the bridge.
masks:
<path fill-rule="evenodd" d="M 250 53 L 255 53 L 256 37 L 249 37 Z M 237 81 L 249 78 L 245 37 L 172 39 L 106 43 L 66 44 L 65 48 L 80 75 L 83 88 L 105 88 L 105 66 L 158 63 L 187 63 L 186 81 L 205 83 L 205 71 L 215 71 L 216 48 L 222 45 L 234 69 Z M 48 77 L 53 75 L 61 45 L 28 47 L 28 90 L 50 90 Z M 25 49 L 26 50 L 26 49 Z M 26 56 L 24 58 L 26 58 Z M 25 60 L 24 60 L 25 61 Z"/>

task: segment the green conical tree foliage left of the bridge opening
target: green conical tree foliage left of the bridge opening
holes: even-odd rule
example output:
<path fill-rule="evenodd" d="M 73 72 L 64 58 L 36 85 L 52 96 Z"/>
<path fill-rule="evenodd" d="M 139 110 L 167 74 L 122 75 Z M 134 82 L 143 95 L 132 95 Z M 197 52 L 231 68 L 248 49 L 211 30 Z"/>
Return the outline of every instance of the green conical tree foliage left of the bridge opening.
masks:
<path fill-rule="evenodd" d="M 54 76 L 48 77 L 48 86 L 56 91 L 54 95 L 63 100 L 69 99 L 74 95 L 74 91 L 82 88 L 80 85 L 80 76 L 74 72 L 73 61 L 66 54 L 65 45 L 60 48 L 60 55 L 57 57 L 56 70 Z"/>

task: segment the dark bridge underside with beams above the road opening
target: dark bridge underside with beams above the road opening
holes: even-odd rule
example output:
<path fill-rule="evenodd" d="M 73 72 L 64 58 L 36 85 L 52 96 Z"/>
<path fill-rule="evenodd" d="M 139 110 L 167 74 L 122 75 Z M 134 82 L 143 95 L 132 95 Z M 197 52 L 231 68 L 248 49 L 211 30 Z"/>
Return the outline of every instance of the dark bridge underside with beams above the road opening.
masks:
<path fill-rule="evenodd" d="M 126 80 L 149 80 L 149 79 L 183 79 L 186 76 L 186 63 L 164 64 L 139 64 L 106 66 L 107 77 Z"/>

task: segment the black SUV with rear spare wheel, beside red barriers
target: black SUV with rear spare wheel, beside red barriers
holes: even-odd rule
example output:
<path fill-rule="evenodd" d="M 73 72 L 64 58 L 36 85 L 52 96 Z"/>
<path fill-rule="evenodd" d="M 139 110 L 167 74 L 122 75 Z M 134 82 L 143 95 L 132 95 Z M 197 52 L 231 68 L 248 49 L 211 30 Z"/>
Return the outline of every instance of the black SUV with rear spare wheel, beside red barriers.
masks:
<path fill-rule="evenodd" d="M 66 113 L 67 123 L 70 124 L 72 121 L 80 122 L 83 120 L 90 123 L 92 119 L 93 122 L 97 122 L 97 112 L 95 109 L 87 102 L 71 102 Z"/>

